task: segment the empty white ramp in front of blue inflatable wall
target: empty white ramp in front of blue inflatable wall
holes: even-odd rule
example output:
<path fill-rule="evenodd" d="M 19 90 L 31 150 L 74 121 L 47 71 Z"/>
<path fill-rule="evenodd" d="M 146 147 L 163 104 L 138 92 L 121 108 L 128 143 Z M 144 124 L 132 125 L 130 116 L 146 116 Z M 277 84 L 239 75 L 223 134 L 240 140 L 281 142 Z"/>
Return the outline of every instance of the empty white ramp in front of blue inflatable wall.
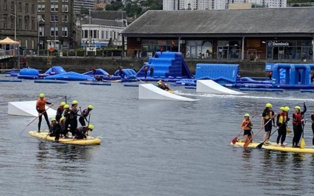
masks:
<path fill-rule="evenodd" d="M 197 80 L 196 93 L 211 93 L 222 95 L 243 95 L 244 93 L 228 89 L 212 80 Z"/>

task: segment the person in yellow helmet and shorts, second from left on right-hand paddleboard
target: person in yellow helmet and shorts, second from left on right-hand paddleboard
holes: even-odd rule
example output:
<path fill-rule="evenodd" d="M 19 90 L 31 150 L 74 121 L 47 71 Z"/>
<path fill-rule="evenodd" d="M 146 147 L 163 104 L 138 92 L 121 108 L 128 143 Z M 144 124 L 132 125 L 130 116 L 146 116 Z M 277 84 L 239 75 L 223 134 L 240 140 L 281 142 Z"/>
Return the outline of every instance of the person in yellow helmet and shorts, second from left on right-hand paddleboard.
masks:
<path fill-rule="evenodd" d="M 266 108 L 264 109 L 263 113 L 262 113 L 262 125 L 265 124 L 264 129 L 265 129 L 265 133 L 264 133 L 264 140 L 265 144 L 268 145 L 269 143 L 269 136 L 271 133 L 271 128 L 272 128 L 272 123 L 275 124 L 275 120 L 273 118 L 273 116 L 275 116 L 274 111 L 272 111 L 272 104 L 270 103 L 266 103 Z M 267 123 L 270 119 L 272 119 L 271 122 Z"/>

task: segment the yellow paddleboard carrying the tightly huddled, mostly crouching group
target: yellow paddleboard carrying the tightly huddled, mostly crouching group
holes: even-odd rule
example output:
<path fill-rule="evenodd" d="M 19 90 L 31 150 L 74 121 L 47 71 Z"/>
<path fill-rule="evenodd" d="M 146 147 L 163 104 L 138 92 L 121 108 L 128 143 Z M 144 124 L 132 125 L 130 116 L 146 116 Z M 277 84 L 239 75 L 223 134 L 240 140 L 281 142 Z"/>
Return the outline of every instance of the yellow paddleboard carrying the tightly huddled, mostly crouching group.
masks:
<path fill-rule="evenodd" d="M 48 134 L 48 131 L 43 131 L 38 133 L 37 131 L 29 131 L 28 134 L 30 136 L 41 138 L 43 140 L 51 140 L 54 141 L 55 137 L 50 137 Z M 47 136 L 47 137 L 46 137 Z M 72 140 L 72 138 L 60 138 L 58 143 L 64 143 L 64 144 L 76 144 L 76 145 L 100 145 L 100 139 L 87 136 L 86 140 Z"/>

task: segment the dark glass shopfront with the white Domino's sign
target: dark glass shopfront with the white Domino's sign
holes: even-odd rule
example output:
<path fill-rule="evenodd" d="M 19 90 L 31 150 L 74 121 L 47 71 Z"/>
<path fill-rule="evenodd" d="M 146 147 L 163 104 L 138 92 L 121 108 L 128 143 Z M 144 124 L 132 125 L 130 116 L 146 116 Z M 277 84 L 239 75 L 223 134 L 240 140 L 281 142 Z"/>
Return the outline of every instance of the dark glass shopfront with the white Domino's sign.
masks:
<path fill-rule="evenodd" d="M 266 44 L 267 59 L 310 59 L 313 49 L 312 41 L 268 40 Z"/>

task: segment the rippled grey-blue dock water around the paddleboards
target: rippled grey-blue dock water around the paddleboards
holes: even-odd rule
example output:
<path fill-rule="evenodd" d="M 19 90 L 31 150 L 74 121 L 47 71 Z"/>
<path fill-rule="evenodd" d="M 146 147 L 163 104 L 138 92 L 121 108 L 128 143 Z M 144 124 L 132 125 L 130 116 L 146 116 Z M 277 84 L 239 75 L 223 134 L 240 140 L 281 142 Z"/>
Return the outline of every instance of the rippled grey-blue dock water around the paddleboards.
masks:
<path fill-rule="evenodd" d="M 314 194 L 314 155 L 231 147 L 245 113 L 274 110 L 314 99 L 298 91 L 248 92 L 239 96 L 195 96 L 195 90 L 171 87 L 196 102 L 138 100 L 135 87 L 0 83 L 0 193 L 2 196 L 231 196 Z M 55 144 L 32 138 L 37 120 L 7 115 L 8 101 L 36 100 L 45 93 L 59 104 L 78 100 L 94 110 L 90 135 L 100 146 Z M 53 106 L 55 109 L 56 106 Z M 291 113 L 291 112 L 290 112 Z M 43 121 L 42 127 L 46 128 Z M 258 128 L 255 128 L 256 132 Z M 262 140 L 263 132 L 257 136 Z M 277 136 L 275 133 L 274 136 Z M 291 143 L 293 134 L 287 136 Z M 306 145 L 312 145 L 310 122 Z M 242 136 L 241 136 L 242 137 Z M 274 141 L 273 137 L 271 141 Z"/>

